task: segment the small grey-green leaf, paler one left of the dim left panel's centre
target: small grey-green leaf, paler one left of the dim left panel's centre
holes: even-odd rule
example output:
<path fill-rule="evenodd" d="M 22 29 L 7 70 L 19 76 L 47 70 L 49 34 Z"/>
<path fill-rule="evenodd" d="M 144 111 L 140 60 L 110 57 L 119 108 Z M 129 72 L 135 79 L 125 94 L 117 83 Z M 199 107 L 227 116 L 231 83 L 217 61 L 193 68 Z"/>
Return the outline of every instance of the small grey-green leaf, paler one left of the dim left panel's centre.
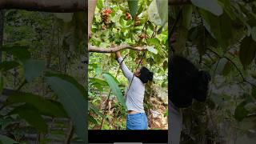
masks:
<path fill-rule="evenodd" d="M 24 68 L 24 75 L 27 82 L 31 82 L 33 78 L 36 78 L 43 74 L 43 70 L 46 68 L 46 62 L 41 60 L 26 59 L 22 60 Z"/>

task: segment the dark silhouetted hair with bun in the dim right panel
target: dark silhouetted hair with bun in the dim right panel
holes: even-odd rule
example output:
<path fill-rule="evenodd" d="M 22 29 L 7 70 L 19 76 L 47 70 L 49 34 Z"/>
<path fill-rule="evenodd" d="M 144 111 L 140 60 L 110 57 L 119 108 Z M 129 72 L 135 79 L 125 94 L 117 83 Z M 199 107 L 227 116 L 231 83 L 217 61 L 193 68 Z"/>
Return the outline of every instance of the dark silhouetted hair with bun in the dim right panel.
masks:
<path fill-rule="evenodd" d="M 169 61 L 169 98 L 179 108 L 190 106 L 193 98 L 206 100 L 210 74 L 198 70 L 192 62 L 174 55 Z"/>

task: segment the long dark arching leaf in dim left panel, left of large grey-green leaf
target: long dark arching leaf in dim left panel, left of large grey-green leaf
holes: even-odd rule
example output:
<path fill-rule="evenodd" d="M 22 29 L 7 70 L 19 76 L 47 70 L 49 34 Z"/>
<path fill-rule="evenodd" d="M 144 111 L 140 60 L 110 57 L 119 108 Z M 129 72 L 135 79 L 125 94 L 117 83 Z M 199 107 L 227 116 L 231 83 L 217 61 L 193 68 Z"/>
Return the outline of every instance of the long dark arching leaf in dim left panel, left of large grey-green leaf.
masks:
<path fill-rule="evenodd" d="M 26 102 L 37 108 L 42 114 L 57 118 L 66 118 L 66 112 L 58 102 L 46 100 L 45 98 L 42 98 L 42 96 L 19 92 L 10 94 L 6 100 L 7 105 L 18 102 Z"/>

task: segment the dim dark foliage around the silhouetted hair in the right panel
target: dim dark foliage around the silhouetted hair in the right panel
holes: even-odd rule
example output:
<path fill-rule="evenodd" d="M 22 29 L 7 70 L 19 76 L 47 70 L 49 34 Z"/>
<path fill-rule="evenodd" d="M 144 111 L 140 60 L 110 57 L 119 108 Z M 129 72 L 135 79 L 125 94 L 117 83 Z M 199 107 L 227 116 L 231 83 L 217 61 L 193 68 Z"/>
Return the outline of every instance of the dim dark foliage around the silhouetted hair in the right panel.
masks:
<path fill-rule="evenodd" d="M 212 81 L 207 101 L 183 110 L 182 143 L 255 142 L 256 2 L 191 2 L 169 7 L 171 45 Z"/>

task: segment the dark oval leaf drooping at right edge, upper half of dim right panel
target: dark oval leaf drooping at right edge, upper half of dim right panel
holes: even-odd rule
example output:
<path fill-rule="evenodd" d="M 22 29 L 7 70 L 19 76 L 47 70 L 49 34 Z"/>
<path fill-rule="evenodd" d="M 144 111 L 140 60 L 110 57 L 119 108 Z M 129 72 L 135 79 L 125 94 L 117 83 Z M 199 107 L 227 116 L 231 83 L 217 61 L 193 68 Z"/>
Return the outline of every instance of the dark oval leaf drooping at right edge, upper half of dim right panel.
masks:
<path fill-rule="evenodd" d="M 251 37 L 242 39 L 239 58 L 244 69 L 253 62 L 256 54 L 256 42 Z"/>

